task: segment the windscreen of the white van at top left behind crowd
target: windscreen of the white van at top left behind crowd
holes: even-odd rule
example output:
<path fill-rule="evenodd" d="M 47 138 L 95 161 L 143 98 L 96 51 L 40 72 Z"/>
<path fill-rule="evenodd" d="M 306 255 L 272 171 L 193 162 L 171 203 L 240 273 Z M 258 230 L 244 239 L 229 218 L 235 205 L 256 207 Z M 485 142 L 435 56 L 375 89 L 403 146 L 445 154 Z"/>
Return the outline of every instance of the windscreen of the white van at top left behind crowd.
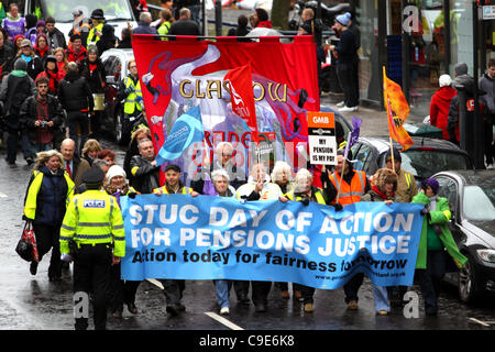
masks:
<path fill-rule="evenodd" d="M 101 9 L 107 21 L 117 19 L 132 21 L 131 9 L 127 0 L 43 0 L 42 8 L 45 16 L 53 16 L 55 22 L 61 23 L 73 22 L 75 9 L 80 9 L 86 18 L 91 15 L 92 10 Z"/>

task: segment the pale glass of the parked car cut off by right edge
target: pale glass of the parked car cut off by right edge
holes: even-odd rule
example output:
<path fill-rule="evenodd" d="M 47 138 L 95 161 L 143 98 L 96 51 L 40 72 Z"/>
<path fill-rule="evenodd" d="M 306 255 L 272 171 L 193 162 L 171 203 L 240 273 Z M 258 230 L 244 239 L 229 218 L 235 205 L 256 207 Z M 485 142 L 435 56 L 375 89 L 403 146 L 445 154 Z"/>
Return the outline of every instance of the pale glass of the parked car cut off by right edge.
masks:
<path fill-rule="evenodd" d="M 470 220 L 495 220 L 495 182 L 465 186 L 463 210 Z"/>

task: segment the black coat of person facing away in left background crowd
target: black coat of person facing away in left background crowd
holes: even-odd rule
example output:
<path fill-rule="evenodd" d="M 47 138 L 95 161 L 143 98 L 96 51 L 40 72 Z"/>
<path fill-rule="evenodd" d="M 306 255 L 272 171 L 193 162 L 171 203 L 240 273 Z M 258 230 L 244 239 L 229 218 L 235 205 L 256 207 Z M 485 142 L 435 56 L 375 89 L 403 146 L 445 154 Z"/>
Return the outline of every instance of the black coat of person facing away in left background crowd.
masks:
<path fill-rule="evenodd" d="M 58 85 L 58 99 L 67 112 L 89 108 L 92 111 L 95 101 L 86 79 L 79 75 L 67 74 Z"/>

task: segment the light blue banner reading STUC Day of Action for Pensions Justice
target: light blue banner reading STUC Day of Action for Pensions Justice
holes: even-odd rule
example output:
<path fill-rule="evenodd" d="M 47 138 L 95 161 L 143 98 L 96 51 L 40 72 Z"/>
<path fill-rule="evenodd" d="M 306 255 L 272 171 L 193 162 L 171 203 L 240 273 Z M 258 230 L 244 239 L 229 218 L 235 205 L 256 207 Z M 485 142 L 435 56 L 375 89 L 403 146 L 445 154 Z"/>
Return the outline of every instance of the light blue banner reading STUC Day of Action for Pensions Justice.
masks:
<path fill-rule="evenodd" d="M 413 284 L 421 205 L 141 195 L 122 198 L 122 278 L 248 279 L 333 289 L 355 273 Z"/>

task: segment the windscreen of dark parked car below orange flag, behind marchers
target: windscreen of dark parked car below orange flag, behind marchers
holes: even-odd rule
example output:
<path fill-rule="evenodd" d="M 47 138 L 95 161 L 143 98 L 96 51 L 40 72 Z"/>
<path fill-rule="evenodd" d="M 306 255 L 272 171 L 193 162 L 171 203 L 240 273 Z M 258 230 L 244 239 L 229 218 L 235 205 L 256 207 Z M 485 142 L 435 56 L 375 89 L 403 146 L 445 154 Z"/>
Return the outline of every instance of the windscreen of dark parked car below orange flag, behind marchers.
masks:
<path fill-rule="evenodd" d="M 409 150 L 400 153 L 400 168 L 411 173 L 415 178 L 427 178 L 448 169 L 471 168 L 464 155 L 438 150 Z"/>

